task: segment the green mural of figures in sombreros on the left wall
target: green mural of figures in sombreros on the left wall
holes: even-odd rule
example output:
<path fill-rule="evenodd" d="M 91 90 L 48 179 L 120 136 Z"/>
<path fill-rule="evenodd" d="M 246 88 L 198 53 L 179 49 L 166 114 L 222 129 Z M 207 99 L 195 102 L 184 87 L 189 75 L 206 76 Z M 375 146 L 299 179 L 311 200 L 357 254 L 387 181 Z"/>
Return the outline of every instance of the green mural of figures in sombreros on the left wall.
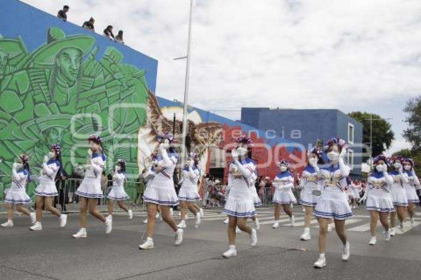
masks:
<path fill-rule="evenodd" d="M 71 158 L 85 163 L 86 138 L 95 132 L 109 160 L 124 158 L 127 171 L 137 174 L 137 133 L 146 123 L 145 71 L 122 63 L 114 47 L 99 60 L 98 51 L 93 36 L 66 36 L 56 27 L 31 53 L 20 38 L 0 38 L 0 169 L 8 173 L 22 151 L 38 166 L 49 145 L 60 142 L 71 172 Z"/>

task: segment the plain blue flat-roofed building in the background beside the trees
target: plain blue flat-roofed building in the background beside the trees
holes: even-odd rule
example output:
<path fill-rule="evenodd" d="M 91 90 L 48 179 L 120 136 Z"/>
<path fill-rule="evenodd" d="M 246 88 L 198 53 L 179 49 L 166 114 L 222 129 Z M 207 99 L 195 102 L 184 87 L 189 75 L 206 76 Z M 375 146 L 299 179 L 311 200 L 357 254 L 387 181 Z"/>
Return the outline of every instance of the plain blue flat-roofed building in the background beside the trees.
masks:
<path fill-rule="evenodd" d="M 361 175 L 363 125 L 337 109 L 241 108 L 241 122 L 306 149 L 314 146 L 317 139 L 325 141 L 338 136 L 349 143 L 351 175 Z"/>

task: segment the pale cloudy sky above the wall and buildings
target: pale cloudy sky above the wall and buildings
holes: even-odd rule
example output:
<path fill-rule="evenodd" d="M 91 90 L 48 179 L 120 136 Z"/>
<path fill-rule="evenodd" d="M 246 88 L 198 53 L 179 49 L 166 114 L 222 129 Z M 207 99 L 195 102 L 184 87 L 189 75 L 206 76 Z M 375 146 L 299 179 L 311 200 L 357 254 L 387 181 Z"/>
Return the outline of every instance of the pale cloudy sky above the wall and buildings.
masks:
<path fill-rule="evenodd" d="M 157 94 L 183 100 L 190 0 L 23 0 L 158 59 Z M 241 107 L 338 108 L 390 118 L 421 94 L 420 0 L 194 0 L 189 104 L 232 118 Z"/>

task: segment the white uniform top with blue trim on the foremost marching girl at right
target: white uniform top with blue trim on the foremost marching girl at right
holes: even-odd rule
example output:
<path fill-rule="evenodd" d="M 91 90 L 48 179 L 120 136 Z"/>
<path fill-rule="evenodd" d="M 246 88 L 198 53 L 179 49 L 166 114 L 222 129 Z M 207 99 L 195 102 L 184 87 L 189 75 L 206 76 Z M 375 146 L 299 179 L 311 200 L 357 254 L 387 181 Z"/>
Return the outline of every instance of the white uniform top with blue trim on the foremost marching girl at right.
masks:
<path fill-rule="evenodd" d="M 343 191 L 347 186 L 346 178 L 349 172 L 350 168 L 348 166 L 345 164 L 340 166 L 339 163 L 320 168 L 320 177 L 318 180 L 320 189 Z"/>

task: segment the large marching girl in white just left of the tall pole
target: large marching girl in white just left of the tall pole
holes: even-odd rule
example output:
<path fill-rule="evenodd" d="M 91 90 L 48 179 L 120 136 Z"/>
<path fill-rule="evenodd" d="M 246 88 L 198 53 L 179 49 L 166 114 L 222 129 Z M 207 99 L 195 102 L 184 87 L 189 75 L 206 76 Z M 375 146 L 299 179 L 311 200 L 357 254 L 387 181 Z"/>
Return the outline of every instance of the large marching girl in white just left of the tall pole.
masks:
<path fill-rule="evenodd" d="M 154 229 L 158 205 L 161 207 L 162 220 L 171 227 L 175 233 L 175 245 L 183 241 L 183 230 L 177 227 L 170 215 L 170 206 L 178 204 L 177 193 L 174 188 L 173 174 L 178 162 L 178 154 L 174 151 L 172 143 L 174 138 L 171 134 L 159 134 L 159 154 L 155 166 L 155 177 L 143 194 L 143 201 L 148 209 L 148 224 L 146 241 L 139 245 L 139 249 L 154 248 Z M 167 151 L 168 150 L 168 151 Z"/>

